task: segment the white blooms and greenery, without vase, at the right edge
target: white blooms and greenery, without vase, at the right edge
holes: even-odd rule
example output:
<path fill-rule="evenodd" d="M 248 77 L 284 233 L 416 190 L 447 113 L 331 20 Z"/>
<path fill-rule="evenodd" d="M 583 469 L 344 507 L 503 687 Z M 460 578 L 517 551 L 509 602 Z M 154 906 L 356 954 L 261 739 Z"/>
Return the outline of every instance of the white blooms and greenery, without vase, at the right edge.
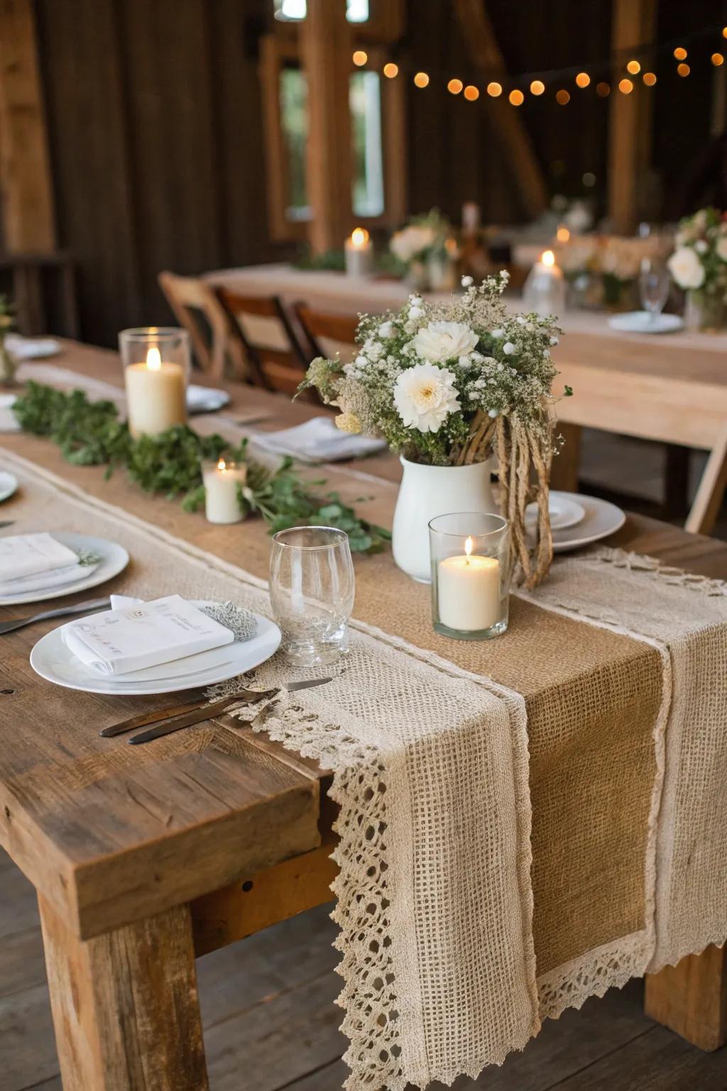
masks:
<path fill-rule="evenodd" d="M 679 224 L 669 272 L 680 288 L 727 300 L 727 217 L 701 208 Z"/>

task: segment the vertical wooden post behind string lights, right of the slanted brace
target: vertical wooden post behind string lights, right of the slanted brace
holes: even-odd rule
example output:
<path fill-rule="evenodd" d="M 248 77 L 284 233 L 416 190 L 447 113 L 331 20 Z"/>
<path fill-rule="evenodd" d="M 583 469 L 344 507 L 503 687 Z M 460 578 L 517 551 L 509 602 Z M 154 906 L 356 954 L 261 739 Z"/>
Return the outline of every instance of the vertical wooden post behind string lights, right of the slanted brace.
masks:
<path fill-rule="evenodd" d="M 656 24 L 655 0 L 614 0 L 611 50 L 623 56 L 650 41 Z M 620 76 L 627 76 L 626 60 Z M 625 95 L 611 88 L 608 145 L 608 215 L 614 230 L 630 235 L 637 224 L 639 185 L 651 159 L 653 92 L 633 80 Z"/>

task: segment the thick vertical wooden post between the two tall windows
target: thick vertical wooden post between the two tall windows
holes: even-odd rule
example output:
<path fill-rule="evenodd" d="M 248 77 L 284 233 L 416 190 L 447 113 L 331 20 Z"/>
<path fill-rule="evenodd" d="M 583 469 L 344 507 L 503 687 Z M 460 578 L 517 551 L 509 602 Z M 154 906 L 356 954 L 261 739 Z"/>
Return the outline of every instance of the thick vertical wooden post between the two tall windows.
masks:
<path fill-rule="evenodd" d="M 308 91 L 308 238 L 314 253 L 342 247 L 351 229 L 352 41 L 346 0 L 308 0 L 301 53 Z"/>

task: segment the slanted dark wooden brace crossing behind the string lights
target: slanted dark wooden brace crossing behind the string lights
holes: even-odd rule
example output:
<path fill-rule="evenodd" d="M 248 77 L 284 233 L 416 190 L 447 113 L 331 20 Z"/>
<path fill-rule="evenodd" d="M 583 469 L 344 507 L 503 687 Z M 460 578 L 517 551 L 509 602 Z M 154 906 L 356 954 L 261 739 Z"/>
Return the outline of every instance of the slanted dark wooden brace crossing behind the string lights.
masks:
<path fill-rule="evenodd" d="M 486 73 L 488 80 L 496 80 L 497 73 L 507 75 L 483 0 L 455 0 L 455 5 L 473 64 Z M 485 98 L 484 101 L 501 145 L 502 163 L 508 165 L 512 183 L 520 190 L 525 212 L 529 216 L 537 216 L 547 207 L 548 193 L 522 116 L 507 100 Z"/>

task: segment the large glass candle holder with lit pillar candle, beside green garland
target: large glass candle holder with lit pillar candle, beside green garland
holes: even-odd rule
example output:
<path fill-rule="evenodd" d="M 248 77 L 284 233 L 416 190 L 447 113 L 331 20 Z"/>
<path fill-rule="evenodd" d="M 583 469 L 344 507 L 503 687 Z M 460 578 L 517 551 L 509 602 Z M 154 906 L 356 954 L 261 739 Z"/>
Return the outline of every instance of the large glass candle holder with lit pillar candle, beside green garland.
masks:
<path fill-rule="evenodd" d="M 122 329 L 119 351 L 124 369 L 129 431 L 159 435 L 186 423 L 190 335 L 174 326 Z"/>

